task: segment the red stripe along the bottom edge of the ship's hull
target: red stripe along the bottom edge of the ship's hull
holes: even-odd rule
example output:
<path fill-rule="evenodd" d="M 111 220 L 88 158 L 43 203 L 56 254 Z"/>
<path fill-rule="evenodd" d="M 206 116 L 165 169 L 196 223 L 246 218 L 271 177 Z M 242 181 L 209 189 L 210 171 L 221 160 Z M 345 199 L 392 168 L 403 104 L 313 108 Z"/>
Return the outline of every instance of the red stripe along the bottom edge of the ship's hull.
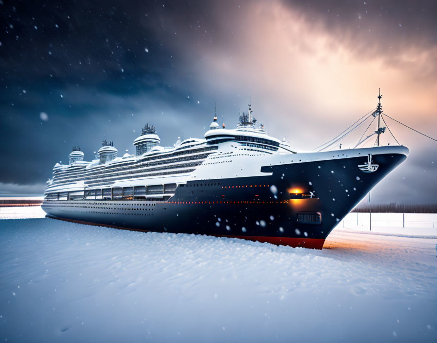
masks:
<path fill-rule="evenodd" d="M 106 225 L 106 224 L 96 224 L 91 222 L 84 222 L 81 220 L 75 220 L 75 219 L 64 219 L 64 218 L 58 218 L 58 217 L 52 217 L 48 216 L 53 219 L 59 219 L 64 220 L 66 222 L 73 222 L 73 223 L 79 223 L 79 224 L 86 224 L 86 225 L 94 225 L 94 226 L 103 226 L 108 228 L 115 228 L 115 229 L 124 229 L 124 230 L 132 230 L 132 231 L 141 231 L 141 232 L 149 232 L 148 230 L 142 230 L 142 229 L 130 229 L 130 228 L 123 228 L 119 226 L 114 225 Z M 275 244 L 277 246 L 289 246 L 289 247 L 302 247 L 302 248 L 309 248 L 309 249 L 321 249 L 323 247 L 323 243 L 325 243 L 325 240 L 323 238 L 289 238 L 289 237 L 271 237 L 271 236 L 230 236 L 230 235 L 212 235 L 215 237 L 228 237 L 228 238 L 239 238 L 239 239 L 246 239 L 249 241 L 258 241 L 260 243 L 271 243 Z"/>

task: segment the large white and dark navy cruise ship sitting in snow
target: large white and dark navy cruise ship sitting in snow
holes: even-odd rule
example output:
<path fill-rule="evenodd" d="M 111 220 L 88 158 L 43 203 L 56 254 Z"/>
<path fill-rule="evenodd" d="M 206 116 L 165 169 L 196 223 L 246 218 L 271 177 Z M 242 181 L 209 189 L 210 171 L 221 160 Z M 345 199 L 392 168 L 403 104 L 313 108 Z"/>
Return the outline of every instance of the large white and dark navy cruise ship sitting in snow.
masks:
<path fill-rule="evenodd" d="M 375 131 L 378 145 L 384 130 Z M 393 145 L 301 152 L 269 136 L 250 105 L 236 128 L 220 127 L 215 116 L 204 138 L 164 148 L 147 124 L 133 144 L 135 155 L 118 157 L 105 139 L 91 162 L 74 147 L 68 165 L 56 163 L 47 181 L 47 216 L 321 249 L 338 222 L 408 155 Z"/>

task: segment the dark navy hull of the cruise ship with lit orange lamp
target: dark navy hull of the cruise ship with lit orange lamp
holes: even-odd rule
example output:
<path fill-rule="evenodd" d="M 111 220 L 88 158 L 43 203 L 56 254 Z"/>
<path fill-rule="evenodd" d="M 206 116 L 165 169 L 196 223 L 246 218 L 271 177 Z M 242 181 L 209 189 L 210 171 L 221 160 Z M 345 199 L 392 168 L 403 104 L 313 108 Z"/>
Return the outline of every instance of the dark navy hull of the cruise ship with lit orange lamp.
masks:
<path fill-rule="evenodd" d="M 375 153 L 372 159 L 378 168 L 372 172 L 358 167 L 367 155 L 335 157 L 264 166 L 262 176 L 187 181 L 167 201 L 44 201 L 42 208 L 49 217 L 122 229 L 238 237 L 321 249 L 338 222 L 406 154 Z"/>

